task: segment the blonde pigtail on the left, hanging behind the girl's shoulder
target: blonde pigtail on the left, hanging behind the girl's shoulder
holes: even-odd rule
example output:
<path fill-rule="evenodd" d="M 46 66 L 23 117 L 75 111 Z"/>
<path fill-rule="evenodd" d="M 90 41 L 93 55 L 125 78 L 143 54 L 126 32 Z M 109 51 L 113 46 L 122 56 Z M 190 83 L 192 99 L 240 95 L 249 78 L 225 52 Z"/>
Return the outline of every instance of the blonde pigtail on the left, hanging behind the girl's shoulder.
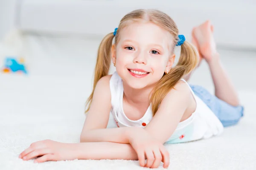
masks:
<path fill-rule="evenodd" d="M 93 91 L 86 101 L 85 113 L 87 113 L 90 109 L 90 105 L 93 100 L 93 93 L 94 93 L 97 82 L 102 77 L 108 75 L 108 71 L 111 64 L 111 47 L 112 47 L 112 41 L 114 37 L 115 36 L 113 32 L 109 33 L 103 38 L 102 42 L 99 45 L 96 66 L 94 69 Z"/>

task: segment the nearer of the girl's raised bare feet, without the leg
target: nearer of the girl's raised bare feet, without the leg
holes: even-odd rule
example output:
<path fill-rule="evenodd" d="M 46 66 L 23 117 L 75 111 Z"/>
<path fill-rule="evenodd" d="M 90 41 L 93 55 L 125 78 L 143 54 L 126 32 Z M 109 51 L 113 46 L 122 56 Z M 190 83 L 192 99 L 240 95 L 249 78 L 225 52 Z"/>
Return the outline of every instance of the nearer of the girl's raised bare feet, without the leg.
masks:
<path fill-rule="evenodd" d="M 213 26 L 209 20 L 192 30 L 192 41 L 197 43 L 199 54 L 201 54 L 201 57 L 205 58 L 207 62 L 209 62 L 212 56 L 217 52 L 212 32 Z"/>

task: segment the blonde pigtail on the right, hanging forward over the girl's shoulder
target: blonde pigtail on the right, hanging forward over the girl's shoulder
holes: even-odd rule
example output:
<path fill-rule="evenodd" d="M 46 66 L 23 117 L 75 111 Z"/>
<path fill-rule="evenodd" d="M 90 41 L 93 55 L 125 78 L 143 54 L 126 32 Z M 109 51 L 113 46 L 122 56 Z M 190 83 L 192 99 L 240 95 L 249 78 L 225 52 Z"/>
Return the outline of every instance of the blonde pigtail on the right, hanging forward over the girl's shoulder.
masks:
<path fill-rule="evenodd" d="M 180 59 L 177 65 L 172 68 L 168 74 L 164 74 L 163 77 L 157 82 L 151 95 L 151 106 L 153 116 L 157 112 L 163 98 L 169 93 L 177 82 L 186 74 L 189 74 L 198 63 L 198 54 L 195 48 L 187 41 L 184 41 L 181 45 Z"/>

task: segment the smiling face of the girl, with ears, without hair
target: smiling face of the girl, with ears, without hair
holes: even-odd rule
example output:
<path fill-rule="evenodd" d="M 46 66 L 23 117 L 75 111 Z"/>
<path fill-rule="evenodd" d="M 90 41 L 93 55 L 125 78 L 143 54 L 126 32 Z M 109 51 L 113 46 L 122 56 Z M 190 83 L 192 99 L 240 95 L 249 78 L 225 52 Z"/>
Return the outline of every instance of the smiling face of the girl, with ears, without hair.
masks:
<path fill-rule="evenodd" d="M 123 82 L 131 88 L 154 85 L 171 69 L 175 54 L 168 31 L 153 23 L 131 23 L 120 30 L 119 36 L 112 47 L 112 60 Z"/>

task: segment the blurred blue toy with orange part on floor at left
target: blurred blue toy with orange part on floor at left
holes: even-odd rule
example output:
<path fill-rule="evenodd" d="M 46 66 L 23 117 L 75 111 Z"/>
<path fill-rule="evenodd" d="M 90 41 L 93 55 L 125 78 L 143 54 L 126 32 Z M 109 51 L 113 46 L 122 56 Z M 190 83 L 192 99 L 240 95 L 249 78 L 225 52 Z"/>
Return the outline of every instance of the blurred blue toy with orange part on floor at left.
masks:
<path fill-rule="evenodd" d="M 7 57 L 5 60 L 3 72 L 9 73 L 9 72 L 18 72 L 21 71 L 24 74 L 27 74 L 26 67 L 23 64 L 24 59 L 20 59 L 20 63 L 17 61 L 17 59 L 13 57 Z"/>

